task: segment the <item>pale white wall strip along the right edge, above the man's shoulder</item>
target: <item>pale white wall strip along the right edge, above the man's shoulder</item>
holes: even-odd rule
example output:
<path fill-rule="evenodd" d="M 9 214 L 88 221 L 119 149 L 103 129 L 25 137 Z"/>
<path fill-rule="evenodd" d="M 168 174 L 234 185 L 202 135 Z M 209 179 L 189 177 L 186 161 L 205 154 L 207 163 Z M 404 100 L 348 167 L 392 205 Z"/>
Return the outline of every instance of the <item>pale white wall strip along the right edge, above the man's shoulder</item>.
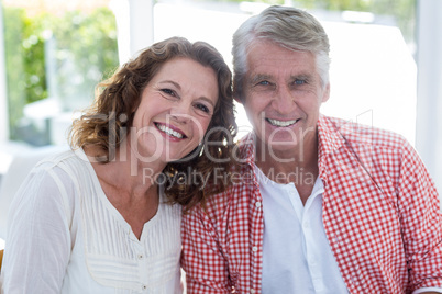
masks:
<path fill-rule="evenodd" d="M 416 146 L 442 193 L 442 1 L 418 0 Z"/>

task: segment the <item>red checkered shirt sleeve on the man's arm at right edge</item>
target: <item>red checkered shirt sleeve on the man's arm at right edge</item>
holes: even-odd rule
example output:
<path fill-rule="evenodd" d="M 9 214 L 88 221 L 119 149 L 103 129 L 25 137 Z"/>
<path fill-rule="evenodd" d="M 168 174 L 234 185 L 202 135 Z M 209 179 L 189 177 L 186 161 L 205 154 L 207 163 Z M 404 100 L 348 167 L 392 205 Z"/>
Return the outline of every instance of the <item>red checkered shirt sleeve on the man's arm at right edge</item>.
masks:
<path fill-rule="evenodd" d="M 423 162 L 409 145 L 402 156 L 398 196 L 410 290 L 442 287 L 440 199 Z"/>

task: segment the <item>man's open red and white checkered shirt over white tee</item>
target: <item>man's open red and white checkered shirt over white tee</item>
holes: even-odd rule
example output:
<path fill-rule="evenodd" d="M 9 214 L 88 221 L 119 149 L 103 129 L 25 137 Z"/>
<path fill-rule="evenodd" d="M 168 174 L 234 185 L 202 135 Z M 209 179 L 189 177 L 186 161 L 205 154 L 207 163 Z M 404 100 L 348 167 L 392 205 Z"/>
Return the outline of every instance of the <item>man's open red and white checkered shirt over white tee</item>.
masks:
<path fill-rule="evenodd" d="M 252 137 L 240 147 L 246 163 L 236 184 L 184 216 L 188 294 L 261 293 L 264 217 Z M 323 115 L 318 137 L 322 220 L 349 292 L 441 287 L 439 195 L 415 149 L 399 135 Z"/>

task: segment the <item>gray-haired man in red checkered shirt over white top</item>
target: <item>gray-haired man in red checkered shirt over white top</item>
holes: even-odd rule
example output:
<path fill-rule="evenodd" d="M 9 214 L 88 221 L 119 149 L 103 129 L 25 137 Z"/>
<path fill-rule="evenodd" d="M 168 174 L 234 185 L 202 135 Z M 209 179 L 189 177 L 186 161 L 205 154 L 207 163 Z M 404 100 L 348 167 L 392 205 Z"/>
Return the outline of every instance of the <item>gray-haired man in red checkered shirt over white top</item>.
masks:
<path fill-rule="evenodd" d="M 439 195 L 400 136 L 327 117 L 329 41 L 270 7 L 233 36 L 253 125 L 224 193 L 183 222 L 188 293 L 442 293 Z"/>

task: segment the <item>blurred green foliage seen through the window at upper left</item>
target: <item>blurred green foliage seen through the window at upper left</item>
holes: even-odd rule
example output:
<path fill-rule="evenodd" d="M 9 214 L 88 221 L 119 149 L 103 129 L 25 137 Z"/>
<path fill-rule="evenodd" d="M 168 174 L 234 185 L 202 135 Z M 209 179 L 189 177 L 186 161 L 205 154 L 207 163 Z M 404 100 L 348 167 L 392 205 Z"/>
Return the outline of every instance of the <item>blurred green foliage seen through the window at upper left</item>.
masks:
<path fill-rule="evenodd" d="M 26 140 L 20 134 L 37 132 L 23 121 L 26 104 L 55 97 L 65 111 L 87 106 L 95 86 L 118 67 L 115 20 L 104 8 L 31 16 L 5 7 L 3 15 L 10 134 Z"/>

